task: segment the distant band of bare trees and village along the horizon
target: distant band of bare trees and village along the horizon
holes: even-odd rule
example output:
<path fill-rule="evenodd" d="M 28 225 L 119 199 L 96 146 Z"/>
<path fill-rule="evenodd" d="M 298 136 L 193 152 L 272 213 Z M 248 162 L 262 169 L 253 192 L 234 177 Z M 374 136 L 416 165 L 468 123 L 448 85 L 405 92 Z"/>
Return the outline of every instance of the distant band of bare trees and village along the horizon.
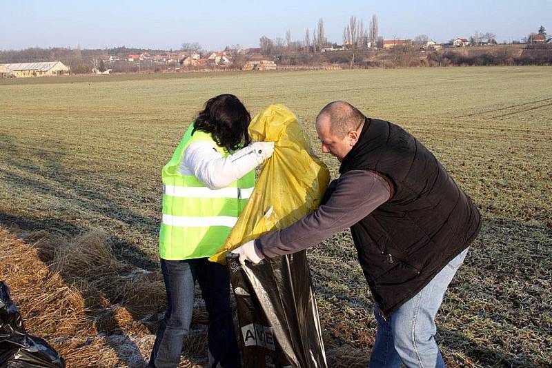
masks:
<path fill-rule="evenodd" d="M 259 52 L 268 59 L 273 59 L 278 65 L 325 65 L 334 64 L 341 68 L 409 68 L 419 66 L 449 66 L 449 65 L 552 65 L 552 45 L 542 42 L 546 38 L 544 26 L 538 28 L 538 33 L 528 37 L 533 40 L 523 46 L 494 46 L 492 48 L 444 48 L 442 50 L 426 50 L 423 48 L 429 37 L 420 34 L 413 42 L 401 44 L 383 50 L 383 38 L 380 37 L 377 16 L 373 14 L 367 23 L 355 16 L 350 17 L 344 25 L 342 44 L 331 43 L 326 38 L 324 20 L 321 18 L 311 29 L 306 28 L 302 39 L 292 39 L 290 30 L 286 30 L 285 39 L 270 39 L 262 36 L 259 39 Z M 535 42 L 540 39 L 540 42 Z M 494 45 L 495 34 L 492 32 L 475 32 L 470 37 L 472 45 Z M 227 68 L 241 69 L 250 54 L 239 52 L 239 45 L 228 45 L 228 52 L 233 61 Z M 423 52 L 420 52 L 420 50 Z M 179 52 L 201 52 L 203 48 L 197 42 L 182 43 Z M 120 46 L 103 50 L 81 50 L 77 48 L 28 48 L 26 50 L 0 51 L 0 63 L 25 63 L 33 61 L 61 61 L 71 68 L 74 74 L 89 73 L 93 69 L 112 72 L 163 72 L 165 70 L 196 70 L 197 68 L 170 61 L 170 63 L 154 63 L 151 60 L 129 62 L 129 54 L 166 54 L 168 50 L 150 50 L 143 48 L 127 48 Z M 170 50 L 172 52 L 172 50 Z M 108 56 L 119 60 L 107 61 Z M 205 53 L 204 53 L 205 57 Z M 117 59 L 117 58 L 116 58 Z"/>

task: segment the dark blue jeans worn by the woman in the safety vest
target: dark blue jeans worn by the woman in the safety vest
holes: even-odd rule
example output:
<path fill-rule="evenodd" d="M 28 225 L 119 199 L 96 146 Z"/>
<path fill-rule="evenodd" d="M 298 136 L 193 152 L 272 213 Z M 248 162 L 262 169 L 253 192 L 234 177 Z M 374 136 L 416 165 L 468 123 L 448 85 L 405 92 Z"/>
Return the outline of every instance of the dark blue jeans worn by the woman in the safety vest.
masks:
<path fill-rule="evenodd" d="M 192 320 L 195 280 L 209 316 L 209 367 L 242 367 L 230 310 L 230 280 L 226 266 L 209 262 L 207 258 L 161 259 L 161 271 L 168 307 L 157 331 L 149 367 L 179 365 L 184 337 Z"/>

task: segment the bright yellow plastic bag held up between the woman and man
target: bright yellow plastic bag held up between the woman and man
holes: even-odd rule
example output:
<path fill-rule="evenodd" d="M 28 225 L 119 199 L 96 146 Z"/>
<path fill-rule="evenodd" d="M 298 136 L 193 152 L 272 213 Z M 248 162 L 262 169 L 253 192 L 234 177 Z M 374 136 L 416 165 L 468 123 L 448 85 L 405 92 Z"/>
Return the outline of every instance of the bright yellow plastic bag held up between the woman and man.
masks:
<path fill-rule="evenodd" d="M 262 234 L 284 229 L 313 212 L 330 181 L 328 168 L 311 150 L 301 123 L 284 105 L 269 105 L 249 125 L 254 141 L 274 143 L 255 190 L 226 243 L 209 260 L 226 264 L 225 254 Z"/>

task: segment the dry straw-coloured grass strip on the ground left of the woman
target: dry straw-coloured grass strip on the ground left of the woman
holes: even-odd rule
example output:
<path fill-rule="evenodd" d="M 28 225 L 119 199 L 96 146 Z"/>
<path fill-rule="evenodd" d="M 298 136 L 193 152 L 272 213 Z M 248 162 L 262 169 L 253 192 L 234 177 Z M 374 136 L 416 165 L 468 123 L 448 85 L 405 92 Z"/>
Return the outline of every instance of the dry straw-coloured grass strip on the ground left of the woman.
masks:
<path fill-rule="evenodd" d="M 0 279 L 8 283 L 27 331 L 46 338 L 68 367 L 147 364 L 165 308 L 163 281 L 158 272 L 117 260 L 103 234 L 68 240 L 0 227 Z M 191 334 L 187 346 L 197 359 L 183 359 L 181 367 L 199 367 L 204 329 Z"/>

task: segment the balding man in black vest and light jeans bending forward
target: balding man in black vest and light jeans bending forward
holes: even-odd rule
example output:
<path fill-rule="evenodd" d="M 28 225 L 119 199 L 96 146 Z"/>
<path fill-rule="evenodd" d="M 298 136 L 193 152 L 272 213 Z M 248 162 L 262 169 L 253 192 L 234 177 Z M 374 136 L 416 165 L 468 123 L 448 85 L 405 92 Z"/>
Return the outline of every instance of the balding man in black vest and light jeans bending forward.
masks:
<path fill-rule="evenodd" d="M 378 323 L 369 367 L 444 367 L 435 315 L 481 227 L 444 167 L 401 127 L 344 101 L 318 114 L 322 152 L 341 162 L 318 209 L 245 243 L 240 261 L 312 247 L 351 227 Z"/>

